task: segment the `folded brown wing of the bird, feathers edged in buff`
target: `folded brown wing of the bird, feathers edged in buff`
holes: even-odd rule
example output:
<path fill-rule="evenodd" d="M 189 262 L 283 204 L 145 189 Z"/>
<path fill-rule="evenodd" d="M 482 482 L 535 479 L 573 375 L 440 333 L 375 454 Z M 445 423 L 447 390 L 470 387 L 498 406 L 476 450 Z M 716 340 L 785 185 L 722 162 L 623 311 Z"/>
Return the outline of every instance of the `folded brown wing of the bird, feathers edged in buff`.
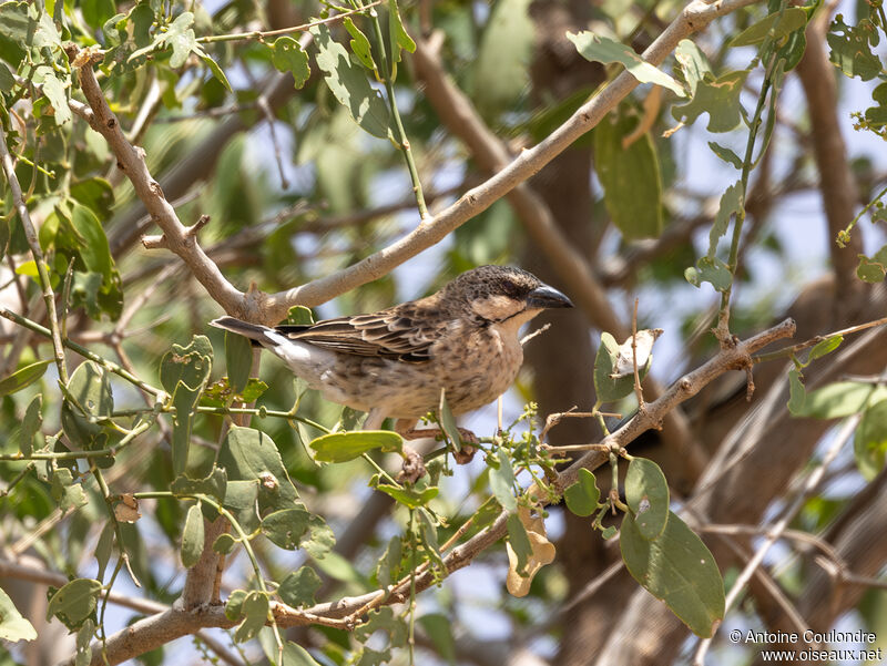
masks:
<path fill-rule="evenodd" d="M 326 319 L 310 326 L 284 325 L 275 330 L 293 340 L 343 354 L 422 362 L 431 358 L 430 347 L 443 329 L 440 320 L 421 317 L 415 309 L 399 306 L 373 315 Z"/>

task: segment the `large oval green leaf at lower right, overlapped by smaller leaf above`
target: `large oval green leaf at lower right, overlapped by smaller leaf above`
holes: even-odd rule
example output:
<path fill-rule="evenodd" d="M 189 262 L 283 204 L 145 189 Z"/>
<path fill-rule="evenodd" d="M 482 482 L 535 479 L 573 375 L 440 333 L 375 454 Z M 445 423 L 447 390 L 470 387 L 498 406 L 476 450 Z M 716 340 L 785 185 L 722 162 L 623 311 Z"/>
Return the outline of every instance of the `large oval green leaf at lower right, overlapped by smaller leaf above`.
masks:
<path fill-rule="evenodd" d="M 620 534 L 622 560 L 632 577 L 690 631 L 710 638 L 724 618 L 724 582 L 702 540 L 674 513 L 652 541 L 643 537 L 630 513 Z"/>

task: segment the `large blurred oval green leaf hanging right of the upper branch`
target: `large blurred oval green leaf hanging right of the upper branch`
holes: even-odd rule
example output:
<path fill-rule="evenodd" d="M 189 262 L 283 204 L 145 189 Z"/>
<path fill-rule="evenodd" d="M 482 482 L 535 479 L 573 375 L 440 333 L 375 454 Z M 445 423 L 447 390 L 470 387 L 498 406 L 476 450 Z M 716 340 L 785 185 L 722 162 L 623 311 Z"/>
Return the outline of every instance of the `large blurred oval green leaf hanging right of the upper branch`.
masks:
<path fill-rule="evenodd" d="M 645 132 L 625 146 L 640 121 L 608 114 L 594 129 L 594 168 L 603 185 L 604 203 L 626 240 L 655 238 L 662 233 L 662 177 L 655 145 Z"/>

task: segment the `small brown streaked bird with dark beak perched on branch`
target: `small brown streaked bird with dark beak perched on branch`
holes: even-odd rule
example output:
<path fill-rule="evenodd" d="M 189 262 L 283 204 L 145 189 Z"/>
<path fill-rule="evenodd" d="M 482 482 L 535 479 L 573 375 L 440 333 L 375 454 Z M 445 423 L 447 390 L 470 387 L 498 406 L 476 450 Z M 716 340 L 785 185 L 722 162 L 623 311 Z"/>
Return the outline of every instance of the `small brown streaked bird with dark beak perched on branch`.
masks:
<path fill-rule="evenodd" d="M 496 400 L 523 362 L 520 327 L 546 308 L 569 307 L 526 270 L 481 266 L 371 315 L 275 328 L 233 317 L 211 324 L 255 340 L 327 400 L 368 411 L 367 430 L 395 418 L 407 433 L 437 409 L 441 388 L 457 416 Z"/>

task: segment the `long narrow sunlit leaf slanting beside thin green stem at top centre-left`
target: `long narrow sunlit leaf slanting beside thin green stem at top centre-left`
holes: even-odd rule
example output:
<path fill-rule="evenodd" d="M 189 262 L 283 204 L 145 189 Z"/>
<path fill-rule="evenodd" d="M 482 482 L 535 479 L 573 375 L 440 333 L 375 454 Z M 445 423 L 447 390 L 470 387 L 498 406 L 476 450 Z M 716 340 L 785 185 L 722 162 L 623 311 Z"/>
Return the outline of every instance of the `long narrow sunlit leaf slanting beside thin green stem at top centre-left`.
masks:
<path fill-rule="evenodd" d="M 333 40 L 326 25 L 310 29 L 317 44 L 317 66 L 333 95 L 348 110 L 354 121 L 366 132 L 379 139 L 388 139 L 388 105 L 374 89 L 366 71 L 351 62 L 345 47 Z"/>

